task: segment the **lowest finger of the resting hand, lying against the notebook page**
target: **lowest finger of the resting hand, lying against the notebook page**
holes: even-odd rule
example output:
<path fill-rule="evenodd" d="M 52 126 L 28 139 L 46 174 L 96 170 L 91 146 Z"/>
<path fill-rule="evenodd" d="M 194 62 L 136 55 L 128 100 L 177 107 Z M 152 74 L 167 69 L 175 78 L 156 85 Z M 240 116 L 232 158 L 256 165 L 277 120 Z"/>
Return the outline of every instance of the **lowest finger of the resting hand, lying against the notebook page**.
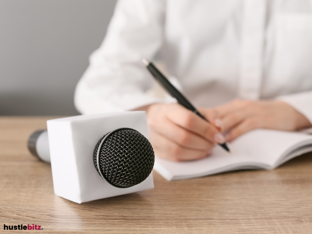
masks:
<path fill-rule="evenodd" d="M 225 139 L 227 139 L 227 141 L 232 141 L 241 134 L 244 134 L 252 129 L 261 128 L 261 125 L 261 119 L 257 117 L 244 119 L 240 124 L 225 135 Z"/>

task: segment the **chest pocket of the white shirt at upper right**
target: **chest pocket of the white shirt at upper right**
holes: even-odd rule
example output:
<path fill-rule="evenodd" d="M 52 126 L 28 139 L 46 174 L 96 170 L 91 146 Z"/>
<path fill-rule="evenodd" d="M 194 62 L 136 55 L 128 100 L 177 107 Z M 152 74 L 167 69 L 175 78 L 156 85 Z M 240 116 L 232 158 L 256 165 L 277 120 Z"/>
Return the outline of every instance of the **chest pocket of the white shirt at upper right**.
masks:
<path fill-rule="evenodd" d="M 275 22 L 271 85 L 280 94 L 312 89 L 312 15 L 280 13 Z"/>

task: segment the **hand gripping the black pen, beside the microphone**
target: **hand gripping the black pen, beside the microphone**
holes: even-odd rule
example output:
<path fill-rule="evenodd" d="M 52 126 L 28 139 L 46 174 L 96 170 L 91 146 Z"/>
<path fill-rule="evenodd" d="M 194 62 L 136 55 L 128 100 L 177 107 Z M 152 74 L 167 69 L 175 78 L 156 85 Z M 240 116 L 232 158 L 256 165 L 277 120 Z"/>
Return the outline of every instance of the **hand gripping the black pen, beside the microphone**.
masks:
<path fill-rule="evenodd" d="M 215 144 L 225 142 L 217 127 L 179 104 L 152 104 L 145 110 L 149 140 L 158 157 L 175 161 L 204 158 Z M 214 110 L 205 110 L 205 118 L 213 119 Z"/>

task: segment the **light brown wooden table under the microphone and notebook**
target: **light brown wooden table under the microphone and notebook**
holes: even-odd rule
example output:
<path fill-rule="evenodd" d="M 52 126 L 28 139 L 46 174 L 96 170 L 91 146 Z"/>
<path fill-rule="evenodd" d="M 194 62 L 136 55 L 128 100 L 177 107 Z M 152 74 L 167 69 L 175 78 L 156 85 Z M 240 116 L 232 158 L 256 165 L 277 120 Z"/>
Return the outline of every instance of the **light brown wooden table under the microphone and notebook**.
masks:
<path fill-rule="evenodd" d="M 0 117 L 0 233 L 33 223 L 49 233 L 312 232 L 312 154 L 273 171 L 171 182 L 154 172 L 154 189 L 77 204 L 54 195 L 50 164 L 27 150 L 47 119 Z"/>

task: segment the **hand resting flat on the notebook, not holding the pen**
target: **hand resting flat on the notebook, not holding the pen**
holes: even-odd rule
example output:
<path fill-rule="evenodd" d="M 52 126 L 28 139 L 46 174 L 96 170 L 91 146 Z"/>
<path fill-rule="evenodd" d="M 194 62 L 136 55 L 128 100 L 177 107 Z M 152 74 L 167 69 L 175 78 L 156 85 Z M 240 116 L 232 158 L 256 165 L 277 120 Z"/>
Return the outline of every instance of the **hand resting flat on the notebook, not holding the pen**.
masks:
<path fill-rule="evenodd" d="M 265 128 L 295 131 L 311 127 L 309 120 L 290 105 L 277 101 L 236 99 L 215 108 L 222 120 L 227 141 L 252 129 Z"/>

